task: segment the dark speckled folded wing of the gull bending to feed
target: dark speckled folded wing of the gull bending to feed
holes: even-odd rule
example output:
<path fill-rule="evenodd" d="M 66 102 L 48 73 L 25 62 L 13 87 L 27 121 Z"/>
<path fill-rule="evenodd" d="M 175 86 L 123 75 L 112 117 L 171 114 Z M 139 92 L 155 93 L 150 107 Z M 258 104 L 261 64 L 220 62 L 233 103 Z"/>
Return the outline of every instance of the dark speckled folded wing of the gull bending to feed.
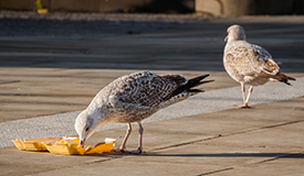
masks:
<path fill-rule="evenodd" d="M 116 105 L 154 108 L 187 81 L 180 75 L 135 73 L 117 79 L 112 95 Z"/>

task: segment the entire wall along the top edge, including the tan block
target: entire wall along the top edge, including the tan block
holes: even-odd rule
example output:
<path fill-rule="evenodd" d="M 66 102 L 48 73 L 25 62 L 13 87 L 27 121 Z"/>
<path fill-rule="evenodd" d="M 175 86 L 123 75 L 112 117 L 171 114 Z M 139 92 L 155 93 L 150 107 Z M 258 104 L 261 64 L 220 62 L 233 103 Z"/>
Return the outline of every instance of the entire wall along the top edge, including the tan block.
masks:
<path fill-rule="evenodd" d="M 34 10 L 35 0 L 0 0 L 0 9 Z M 210 16 L 304 14 L 304 0 L 42 0 L 49 11 L 198 13 Z"/>

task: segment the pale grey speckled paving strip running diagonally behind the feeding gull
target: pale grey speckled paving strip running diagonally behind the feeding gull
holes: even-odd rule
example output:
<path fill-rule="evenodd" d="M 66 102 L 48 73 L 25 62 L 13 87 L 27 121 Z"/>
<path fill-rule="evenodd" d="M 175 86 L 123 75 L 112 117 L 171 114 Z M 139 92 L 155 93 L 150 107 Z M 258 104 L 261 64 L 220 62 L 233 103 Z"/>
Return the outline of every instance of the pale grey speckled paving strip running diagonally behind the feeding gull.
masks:
<path fill-rule="evenodd" d="M 268 82 L 264 86 L 256 87 L 252 95 L 250 105 L 274 102 L 297 97 L 303 97 L 304 77 L 297 78 L 293 86 L 286 86 L 279 82 Z M 279 85 L 280 86 L 279 86 Z M 282 94 L 286 92 L 286 94 Z M 239 95 L 239 96 L 238 96 Z M 216 89 L 206 91 L 188 98 L 187 100 L 172 105 L 158 111 L 143 122 L 164 121 L 168 119 L 182 118 L 192 114 L 201 114 L 231 109 L 233 105 L 242 102 L 240 87 Z M 239 97 L 239 98 L 238 98 Z M 1 133 L 1 147 L 10 146 L 11 139 L 15 138 L 43 138 L 43 136 L 64 136 L 75 135 L 74 121 L 80 111 L 69 112 L 55 116 L 45 116 L 31 119 L 7 121 L 0 123 L 3 129 Z M 108 130 L 126 124 L 109 123 L 99 128 Z"/>

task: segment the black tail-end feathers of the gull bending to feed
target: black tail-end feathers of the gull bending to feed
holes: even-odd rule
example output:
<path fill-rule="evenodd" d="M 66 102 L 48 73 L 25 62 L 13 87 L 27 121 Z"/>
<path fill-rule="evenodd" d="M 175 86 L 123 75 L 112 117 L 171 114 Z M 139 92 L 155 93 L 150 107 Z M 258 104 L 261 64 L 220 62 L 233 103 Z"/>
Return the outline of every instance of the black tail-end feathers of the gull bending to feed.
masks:
<path fill-rule="evenodd" d="M 189 91 L 189 92 L 202 92 L 203 90 L 201 89 L 191 89 L 193 87 L 197 87 L 199 85 L 202 85 L 202 84 L 207 84 L 207 82 L 211 82 L 211 81 L 214 81 L 214 80 L 205 80 L 205 81 L 201 81 L 202 79 L 207 78 L 209 75 L 202 75 L 202 76 L 199 76 L 199 77 L 195 77 L 192 79 L 189 79 L 188 82 L 186 85 L 182 85 L 180 87 L 178 87 L 170 96 L 168 96 L 166 99 L 170 99 L 184 91 Z"/>

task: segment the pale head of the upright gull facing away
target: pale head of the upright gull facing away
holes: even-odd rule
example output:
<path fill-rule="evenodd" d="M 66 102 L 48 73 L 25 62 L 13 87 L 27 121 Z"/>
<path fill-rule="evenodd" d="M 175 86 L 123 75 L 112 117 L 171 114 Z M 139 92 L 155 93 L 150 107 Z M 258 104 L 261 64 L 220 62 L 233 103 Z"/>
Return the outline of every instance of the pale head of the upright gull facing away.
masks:
<path fill-rule="evenodd" d="M 229 41 L 245 41 L 245 31 L 241 25 L 234 24 L 227 29 L 224 42 Z"/>

